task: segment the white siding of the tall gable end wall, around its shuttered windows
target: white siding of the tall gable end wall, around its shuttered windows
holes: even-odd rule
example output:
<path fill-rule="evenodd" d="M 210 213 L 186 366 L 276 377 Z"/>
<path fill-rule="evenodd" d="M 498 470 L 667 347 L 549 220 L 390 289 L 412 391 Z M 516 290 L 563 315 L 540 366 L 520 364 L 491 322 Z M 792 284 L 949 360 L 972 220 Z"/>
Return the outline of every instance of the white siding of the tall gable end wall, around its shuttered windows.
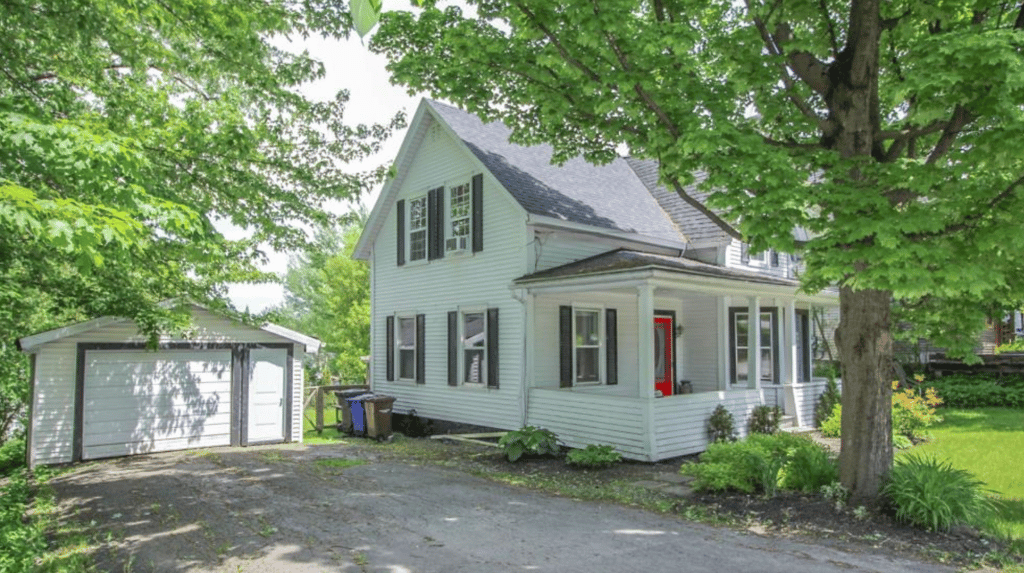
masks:
<path fill-rule="evenodd" d="M 395 201 L 425 193 L 482 167 L 462 143 L 434 124 L 410 164 Z M 445 217 L 445 221 L 447 217 Z M 501 429 L 522 424 L 521 380 L 525 308 L 512 297 L 512 280 L 526 274 L 525 214 L 488 173 L 483 173 L 483 251 L 446 254 L 435 261 L 396 261 L 395 210 L 385 218 L 372 254 L 372 382 L 394 396 L 394 411 Z M 447 313 L 459 308 L 499 309 L 500 388 L 447 385 Z M 387 382 L 385 317 L 425 315 L 426 384 Z M 397 368 L 396 368 L 397 369 Z"/>

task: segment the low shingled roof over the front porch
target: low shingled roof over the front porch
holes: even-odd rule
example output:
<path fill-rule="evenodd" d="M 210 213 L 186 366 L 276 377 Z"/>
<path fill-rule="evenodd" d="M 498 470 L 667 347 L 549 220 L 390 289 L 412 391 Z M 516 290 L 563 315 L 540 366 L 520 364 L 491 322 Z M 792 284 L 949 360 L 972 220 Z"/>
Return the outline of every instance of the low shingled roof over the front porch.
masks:
<path fill-rule="evenodd" d="M 569 278 L 572 276 L 637 270 L 645 267 L 677 271 L 684 274 L 727 278 L 742 282 L 759 282 L 762 284 L 793 286 L 794 289 L 800 285 L 799 280 L 792 278 L 780 278 L 757 272 L 720 267 L 683 257 L 668 257 L 665 255 L 653 255 L 650 253 L 628 251 L 625 249 L 609 251 L 607 253 L 595 255 L 588 259 L 568 263 L 560 267 L 520 276 L 515 281 L 532 282 L 537 280 L 553 280 L 557 278 Z"/>

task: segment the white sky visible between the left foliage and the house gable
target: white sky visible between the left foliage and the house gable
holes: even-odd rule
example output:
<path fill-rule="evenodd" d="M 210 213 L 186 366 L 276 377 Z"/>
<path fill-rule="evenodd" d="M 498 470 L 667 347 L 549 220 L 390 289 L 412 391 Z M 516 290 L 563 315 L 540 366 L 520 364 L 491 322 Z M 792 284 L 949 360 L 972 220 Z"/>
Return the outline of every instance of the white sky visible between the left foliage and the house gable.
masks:
<path fill-rule="evenodd" d="M 384 123 L 399 109 L 412 119 L 419 96 L 407 95 L 406 88 L 390 85 L 384 70 L 386 59 L 370 53 L 354 34 L 345 41 L 310 39 L 293 49 L 301 51 L 303 48 L 323 61 L 327 70 L 325 78 L 309 84 L 305 93 L 314 99 L 329 99 L 338 90 L 347 89 L 350 99 L 345 109 L 346 124 Z M 353 166 L 352 170 L 391 162 L 398 153 L 403 136 L 404 132 L 396 133 L 383 151 L 371 160 L 372 165 Z M 361 202 L 368 210 L 373 208 L 378 191 L 376 189 L 372 195 L 362 197 Z M 347 209 L 347 206 L 338 207 L 340 212 Z M 238 238 L 244 233 L 229 225 L 223 225 L 221 230 L 228 238 Z M 288 269 L 288 257 L 287 253 L 269 253 L 265 269 L 284 273 Z M 244 310 L 248 307 L 251 312 L 259 312 L 282 302 L 284 290 L 281 284 L 232 284 L 228 288 L 228 296 L 237 308 Z"/>

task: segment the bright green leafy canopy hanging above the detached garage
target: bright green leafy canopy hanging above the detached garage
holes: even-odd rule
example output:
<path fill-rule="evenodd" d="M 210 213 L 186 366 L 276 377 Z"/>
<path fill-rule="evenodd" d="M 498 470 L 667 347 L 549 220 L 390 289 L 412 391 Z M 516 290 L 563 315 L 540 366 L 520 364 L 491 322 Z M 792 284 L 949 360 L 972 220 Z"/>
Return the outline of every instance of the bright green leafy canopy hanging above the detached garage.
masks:
<path fill-rule="evenodd" d="M 304 244 L 374 181 L 345 162 L 402 122 L 350 127 L 346 93 L 301 95 L 324 68 L 279 46 L 345 36 L 334 2 L 12 0 L 0 25 L 0 268 L 26 269 L 0 289 L 45 283 L 54 311 L 153 333 L 180 322 L 162 299 L 265 278 L 259 246 Z"/>

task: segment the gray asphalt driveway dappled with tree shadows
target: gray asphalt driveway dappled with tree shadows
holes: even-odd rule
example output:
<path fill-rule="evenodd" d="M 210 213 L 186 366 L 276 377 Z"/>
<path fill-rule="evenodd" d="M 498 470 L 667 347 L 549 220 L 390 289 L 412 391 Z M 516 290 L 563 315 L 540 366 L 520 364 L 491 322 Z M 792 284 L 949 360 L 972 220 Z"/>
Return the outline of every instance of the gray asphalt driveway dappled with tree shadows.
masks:
<path fill-rule="evenodd" d="M 348 460 L 366 464 L 345 467 Z M 101 571 L 942 572 L 512 488 L 344 445 L 222 448 L 81 466 L 61 516 Z"/>

